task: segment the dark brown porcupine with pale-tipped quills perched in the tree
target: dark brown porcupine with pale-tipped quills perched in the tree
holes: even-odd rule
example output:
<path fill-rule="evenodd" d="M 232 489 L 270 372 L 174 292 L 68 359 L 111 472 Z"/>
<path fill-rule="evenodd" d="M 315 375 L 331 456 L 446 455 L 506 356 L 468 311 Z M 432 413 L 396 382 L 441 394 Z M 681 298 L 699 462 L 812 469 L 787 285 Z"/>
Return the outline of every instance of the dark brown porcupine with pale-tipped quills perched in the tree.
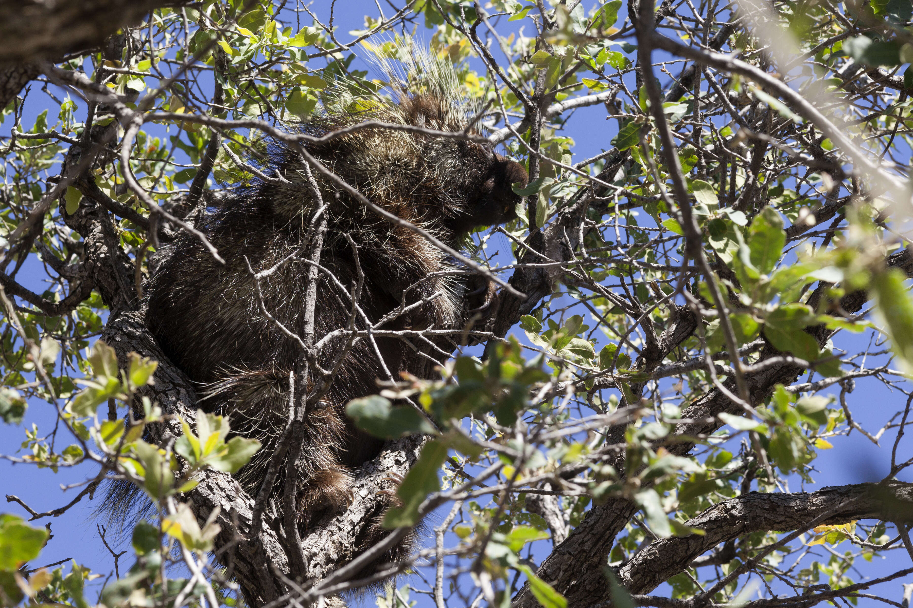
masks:
<path fill-rule="evenodd" d="M 448 132 L 468 129 L 477 134 L 473 121 L 480 105 L 460 93 L 454 67 L 427 54 L 401 55 L 409 77 L 387 72 L 393 100 L 373 98 L 355 104 L 362 108 L 357 111 L 352 111 L 352 104 L 327 104 L 301 129 L 322 135 L 375 119 Z M 477 226 L 513 219 L 520 197 L 511 185 L 527 181 L 518 162 L 466 139 L 358 129 L 325 143 L 309 143 L 306 148 L 368 200 L 451 247 Z M 293 149 L 274 143 L 261 166 L 267 174 L 276 175 L 278 170 L 285 180 L 307 184 L 310 181 L 302 162 Z M 467 308 L 472 305 L 464 301 L 471 299 L 467 294 L 479 290 L 470 288 L 475 284 L 442 274 L 454 268 L 444 252 L 423 236 L 366 209 L 317 170 L 312 169 L 312 174 L 327 204 L 328 230 L 320 263 L 341 285 L 350 286 L 358 270 L 345 235 L 352 237 L 364 277 L 359 304 L 371 323 L 401 303 L 423 299 L 425 304 L 383 329 L 452 329 L 466 322 Z M 202 407 L 230 417 L 233 431 L 264 444 L 238 473 L 252 496 L 266 476 L 279 431 L 288 423 L 289 371 L 302 352 L 294 339 L 263 314 L 247 263 L 254 272 L 279 264 L 275 273 L 259 282 L 262 304 L 276 321 L 300 334 L 308 266 L 294 253 L 301 247 L 315 209 L 315 197 L 307 188 L 254 183 L 222 202 L 203 222 L 202 230 L 225 259 L 224 265 L 199 239 L 185 234 L 170 245 L 171 251 L 147 286 L 147 324 L 165 354 L 203 387 Z M 314 323 L 317 340 L 345 327 L 351 311 L 347 296 L 331 277 L 320 273 L 319 281 Z M 491 283 L 482 285 L 489 297 L 490 287 Z M 357 325 L 365 327 L 361 318 Z M 394 377 L 404 370 L 407 348 L 399 339 L 376 338 L 376 351 Z M 327 365 L 329 355 L 319 354 L 321 366 Z M 421 376 L 430 370 L 407 371 Z M 323 397 L 325 407 L 307 414 L 307 439 L 297 481 L 304 526 L 321 511 L 341 509 L 348 500 L 352 470 L 380 453 L 382 442 L 354 428 L 344 407 L 353 398 L 376 393 L 376 379 L 383 377 L 375 347 L 362 339 L 342 361 Z"/>

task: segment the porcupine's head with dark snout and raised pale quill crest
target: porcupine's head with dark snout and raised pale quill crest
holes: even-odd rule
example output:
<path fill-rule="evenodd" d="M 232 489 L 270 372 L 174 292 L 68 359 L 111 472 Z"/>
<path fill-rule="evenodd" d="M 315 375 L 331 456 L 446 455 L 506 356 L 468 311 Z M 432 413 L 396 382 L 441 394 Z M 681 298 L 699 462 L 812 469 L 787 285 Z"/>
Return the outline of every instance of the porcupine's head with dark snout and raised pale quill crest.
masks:
<path fill-rule="evenodd" d="M 477 124 L 482 104 L 467 95 L 456 68 L 446 59 L 401 41 L 370 48 L 381 57 L 377 65 L 392 96 L 353 95 L 352 88 L 345 86 L 328 89 L 322 111 L 303 127 L 305 132 L 320 135 L 377 120 L 467 133 L 475 139 L 395 129 L 356 129 L 326 143 L 308 144 L 311 153 L 370 201 L 444 241 L 455 242 L 460 233 L 514 219 L 520 197 L 512 185 L 526 184 L 526 170 L 499 155 L 480 136 Z M 279 163 L 288 167 L 289 180 L 301 180 L 302 168 L 295 157 L 289 154 L 285 163 Z M 325 187 L 338 191 L 329 180 L 317 177 L 321 190 Z M 287 212 L 300 212 L 300 198 L 286 201 Z M 346 204 L 345 196 L 340 204 Z M 331 215 L 351 218 L 356 206 L 349 201 L 346 213 L 337 211 Z M 370 211 L 365 211 L 361 219 L 368 223 L 379 220 Z"/>

